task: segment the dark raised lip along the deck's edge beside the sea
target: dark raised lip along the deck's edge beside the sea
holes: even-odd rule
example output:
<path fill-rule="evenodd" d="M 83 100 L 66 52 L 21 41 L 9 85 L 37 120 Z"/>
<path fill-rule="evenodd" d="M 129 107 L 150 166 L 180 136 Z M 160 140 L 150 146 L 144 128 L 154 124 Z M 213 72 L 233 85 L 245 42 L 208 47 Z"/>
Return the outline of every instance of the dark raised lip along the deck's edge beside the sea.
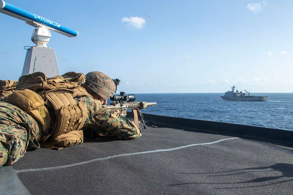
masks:
<path fill-rule="evenodd" d="M 157 124 L 158 126 L 203 130 L 213 134 L 233 135 L 244 139 L 265 141 L 273 144 L 293 147 L 293 131 L 290 130 L 208 120 L 176 118 L 146 113 L 144 113 L 143 116 L 145 121 L 154 125 Z"/>

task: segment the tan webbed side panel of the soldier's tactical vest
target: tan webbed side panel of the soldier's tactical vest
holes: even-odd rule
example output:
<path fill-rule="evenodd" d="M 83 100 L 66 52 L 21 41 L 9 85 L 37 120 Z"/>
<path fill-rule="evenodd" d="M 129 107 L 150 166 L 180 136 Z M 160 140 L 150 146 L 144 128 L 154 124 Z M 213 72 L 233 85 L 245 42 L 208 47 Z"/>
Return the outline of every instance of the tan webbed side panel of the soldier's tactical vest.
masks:
<path fill-rule="evenodd" d="M 80 130 L 86 120 L 86 102 L 76 103 L 70 92 L 47 93 L 46 99 L 52 104 L 56 113 L 56 126 L 53 137 Z"/>

